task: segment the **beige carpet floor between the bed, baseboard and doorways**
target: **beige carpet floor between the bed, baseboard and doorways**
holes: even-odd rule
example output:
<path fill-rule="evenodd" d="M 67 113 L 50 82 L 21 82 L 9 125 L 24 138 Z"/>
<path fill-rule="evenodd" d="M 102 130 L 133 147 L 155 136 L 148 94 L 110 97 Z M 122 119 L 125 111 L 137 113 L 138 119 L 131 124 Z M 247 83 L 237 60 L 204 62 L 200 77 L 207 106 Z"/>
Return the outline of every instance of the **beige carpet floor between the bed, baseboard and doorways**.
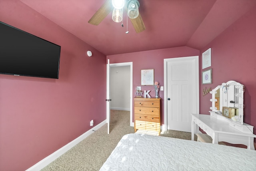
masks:
<path fill-rule="evenodd" d="M 105 124 L 41 171 L 98 171 L 118 141 L 125 134 L 134 133 L 130 111 L 111 110 L 110 120 L 109 135 Z M 160 136 L 191 139 L 191 133 L 171 130 Z"/>

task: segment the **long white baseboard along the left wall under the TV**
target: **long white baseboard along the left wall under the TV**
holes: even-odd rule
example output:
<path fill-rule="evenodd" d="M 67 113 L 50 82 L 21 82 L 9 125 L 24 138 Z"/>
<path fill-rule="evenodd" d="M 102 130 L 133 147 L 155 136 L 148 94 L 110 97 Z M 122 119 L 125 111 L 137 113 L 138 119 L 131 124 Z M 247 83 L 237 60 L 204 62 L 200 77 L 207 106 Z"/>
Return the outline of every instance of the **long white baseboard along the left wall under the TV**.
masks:
<path fill-rule="evenodd" d="M 90 134 L 94 133 L 94 131 L 98 130 L 105 123 L 106 123 L 106 120 L 102 121 L 101 123 L 99 123 L 95 127 L 92 127 L 92 129 L 86 131 L 85 133 L 83 133 L 82 135 L 80 135 L 79 137 L 77 137 L 76 139 L 71 141 L 70 143 L 64 145 L 63 147 L 61 147 L 60 149 L 58 149 L 57 151 L 55 151 L 51 155 L 45 157 L 44 159 L 42 159 L 41 161 L 39 161 L 38 163 L 36 163 L 32 167 L 30 167 L 29 169 L 27 169 L 26 171 L 39 171 L 39 170 L 43 169 L 44 167 L 46 167 L 47 165 L 52 163 L 52 161 L 54 161 L 55 159 L 60 157 L 62 154 L 66 153 L 66 151 L 68 151 L 69 149 L 74 147 L 76 144 L 80 143 L 80 141 L 82 141 L 83 139 L 88 137 Z"/>

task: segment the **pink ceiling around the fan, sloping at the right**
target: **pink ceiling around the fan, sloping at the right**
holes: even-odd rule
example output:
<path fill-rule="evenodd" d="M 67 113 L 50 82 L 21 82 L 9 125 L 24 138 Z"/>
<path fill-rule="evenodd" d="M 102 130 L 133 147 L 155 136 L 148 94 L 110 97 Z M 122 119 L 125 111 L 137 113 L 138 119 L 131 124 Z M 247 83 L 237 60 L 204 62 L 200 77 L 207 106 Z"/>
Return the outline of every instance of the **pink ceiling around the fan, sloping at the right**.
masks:
<path fill-rule="evenodd" d="M 136 33 L 126 12 L 98 25 L 88 20 L 105 0 L 20 0 L 105 55 L 178 46 L 200 49 L 256 6 L 256 0 L 139 0 L 146 30 Z"/>

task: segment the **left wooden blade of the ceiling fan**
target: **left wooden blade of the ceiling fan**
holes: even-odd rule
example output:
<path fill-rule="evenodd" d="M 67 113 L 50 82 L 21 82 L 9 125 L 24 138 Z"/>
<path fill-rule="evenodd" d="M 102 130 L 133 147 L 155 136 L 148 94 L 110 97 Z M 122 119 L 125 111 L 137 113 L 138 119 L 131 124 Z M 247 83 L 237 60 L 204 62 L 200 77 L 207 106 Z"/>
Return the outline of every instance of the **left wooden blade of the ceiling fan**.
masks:
<path fill-rule="evenodd" d="M 96 11 L 88 23 L 98 26 L 102 20 L 112 11 L 112 1 L 107 0 L 101 7 Z"/>

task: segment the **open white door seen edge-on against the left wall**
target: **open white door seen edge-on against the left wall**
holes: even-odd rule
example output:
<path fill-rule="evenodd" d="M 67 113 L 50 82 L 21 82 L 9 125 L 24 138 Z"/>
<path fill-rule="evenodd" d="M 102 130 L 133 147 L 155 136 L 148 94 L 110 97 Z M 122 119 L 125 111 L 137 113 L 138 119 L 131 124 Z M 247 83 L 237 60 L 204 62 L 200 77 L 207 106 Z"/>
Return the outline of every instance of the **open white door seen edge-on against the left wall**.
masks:
<path fill-rule="evenodd" d="M 110 86 L 110 66 L 109 66 L 109 59 L 108 59 L 108 64 L 107 64 L 107 76 L 106 76 L 106 82 L 107 82 L 107 85 L 106 85 L 106 115 L 107 115 L 107 123 L 108 123 L 108 134 L 109 134 L 109 124 L 110 124 L 110 89 L 109 89 L 109 86 Z"/>

